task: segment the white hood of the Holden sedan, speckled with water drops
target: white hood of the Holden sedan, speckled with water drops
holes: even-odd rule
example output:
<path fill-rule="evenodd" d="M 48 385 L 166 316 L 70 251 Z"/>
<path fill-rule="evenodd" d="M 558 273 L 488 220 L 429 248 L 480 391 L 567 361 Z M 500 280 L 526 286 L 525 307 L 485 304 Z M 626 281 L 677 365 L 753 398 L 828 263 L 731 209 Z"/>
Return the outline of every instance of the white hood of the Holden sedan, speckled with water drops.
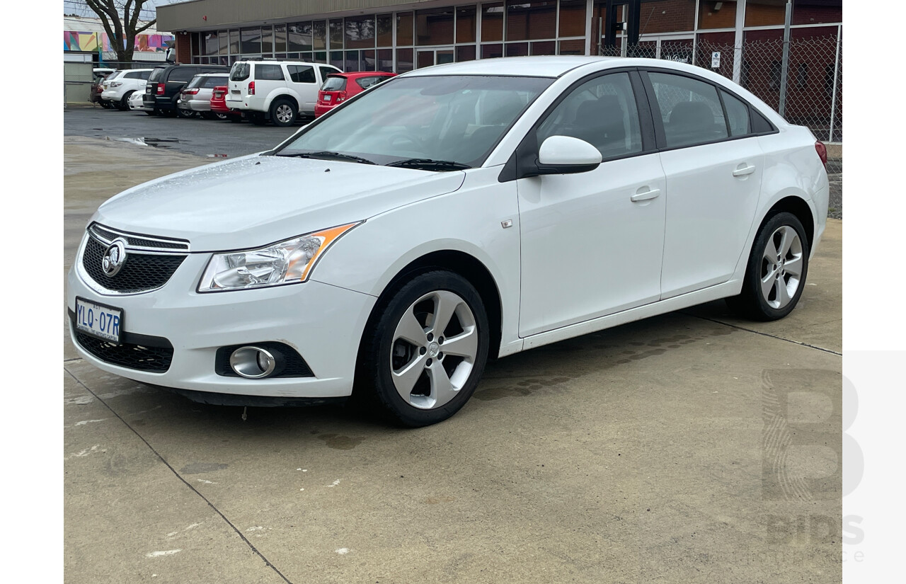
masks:
<path fill-rule="evenodd" d="M 465 173 L 251 155 L 132 187 L 92 221 L 188 239 L 193 252 L 270 244 L 457 190 Z"/>

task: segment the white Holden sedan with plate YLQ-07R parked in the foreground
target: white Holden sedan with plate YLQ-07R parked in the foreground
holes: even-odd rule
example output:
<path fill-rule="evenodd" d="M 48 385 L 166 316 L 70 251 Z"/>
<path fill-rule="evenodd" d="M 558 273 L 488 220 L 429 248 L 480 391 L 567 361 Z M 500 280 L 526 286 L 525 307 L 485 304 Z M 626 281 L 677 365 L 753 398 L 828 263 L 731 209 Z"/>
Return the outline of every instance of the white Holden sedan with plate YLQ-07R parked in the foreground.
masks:
<path fill-rule="evenodd" d="M 421 69 L 271 151 L 101 205 L 69 274 L 72 341 L 199 401 L 354 395 L 425 426 L 488 358 L 719 298 L 786 316 L 824 232 L 825 161 L 808 129 L 690 65 Z"/>

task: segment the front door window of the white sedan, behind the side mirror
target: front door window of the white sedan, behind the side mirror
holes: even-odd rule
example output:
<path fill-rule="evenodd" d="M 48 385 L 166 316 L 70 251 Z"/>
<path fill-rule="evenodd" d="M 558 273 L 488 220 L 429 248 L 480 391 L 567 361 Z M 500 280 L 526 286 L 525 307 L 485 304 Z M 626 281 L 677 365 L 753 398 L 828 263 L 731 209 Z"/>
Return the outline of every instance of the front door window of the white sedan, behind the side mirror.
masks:
<path fill-rule="evenodd" d="M 610 73 L 586 81 L 550 113 L 538 129 L 538 146 L 551 136 L 583 139 L 602 158 L 641 152 L 639 110 L 629 73 Z"/>

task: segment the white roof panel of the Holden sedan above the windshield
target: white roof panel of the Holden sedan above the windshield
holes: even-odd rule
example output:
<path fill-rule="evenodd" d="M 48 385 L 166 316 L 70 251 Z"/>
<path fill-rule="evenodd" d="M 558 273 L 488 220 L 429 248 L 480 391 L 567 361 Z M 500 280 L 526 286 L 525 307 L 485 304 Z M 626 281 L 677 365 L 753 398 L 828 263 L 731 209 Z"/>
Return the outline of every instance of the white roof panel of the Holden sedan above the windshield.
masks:
<path fill-rule="evenodd" d="M 407 77 L 420 75 L 515 75 L 520 77 L 559 77 L 576 67 L 622 57 L 586 57 L 583 55 L 550 55 L 536 57 L 498 57 L 477 61 L 451 62 L 404 73 Z"/>

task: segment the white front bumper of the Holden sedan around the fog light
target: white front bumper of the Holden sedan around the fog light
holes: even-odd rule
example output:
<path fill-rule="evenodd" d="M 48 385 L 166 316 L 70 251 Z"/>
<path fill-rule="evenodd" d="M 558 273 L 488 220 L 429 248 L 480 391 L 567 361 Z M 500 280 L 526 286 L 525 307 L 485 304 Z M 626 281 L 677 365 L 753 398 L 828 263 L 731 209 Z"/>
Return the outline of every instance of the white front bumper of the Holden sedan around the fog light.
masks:
<path fill-rule="evenodd" d="M 70 338 L 95 367 L 151 385 L 252 397 L 347 397 L 361 332 L 377 300 L 322 282 L 235 292 L 196 292 L 211 254 L 189 254 L 162 288 L 139 294 L 96 292 L 82 268 L 82 246 L 68 276 L 66 304 L 76 296 L 121 309 L 131 335 L 168 340 L 169 369 L 152 372 L 121 367 L 83 348 L 70 323 Z M 124 339 L 130 342 L 128 339 Z M 313 377 L 246 379 L 218 375 L 217 349 L 275 341 L 295 349 Z"/>

